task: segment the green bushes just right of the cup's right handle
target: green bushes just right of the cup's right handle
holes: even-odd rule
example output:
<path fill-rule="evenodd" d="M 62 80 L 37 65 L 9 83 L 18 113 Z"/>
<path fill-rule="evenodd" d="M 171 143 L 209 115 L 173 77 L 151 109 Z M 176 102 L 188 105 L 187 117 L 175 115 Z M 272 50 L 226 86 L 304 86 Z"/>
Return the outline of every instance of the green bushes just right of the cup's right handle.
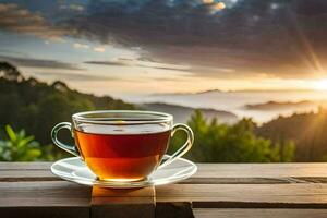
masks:
<path fill-rule="evenodd" d="M 207 121 L 199 111 L 191 117 L 189 125 L 195 142 L 186 158 L 201 162 L 271 162 L 291 161 L 294 144 L 290 141 L 271 144 L 254 134 L 255 123 L 243 119 L 234 125 L 220 124 L 216 119 Z M 184 142 L 179 134 L 172 141 L 171 150 Z"/>

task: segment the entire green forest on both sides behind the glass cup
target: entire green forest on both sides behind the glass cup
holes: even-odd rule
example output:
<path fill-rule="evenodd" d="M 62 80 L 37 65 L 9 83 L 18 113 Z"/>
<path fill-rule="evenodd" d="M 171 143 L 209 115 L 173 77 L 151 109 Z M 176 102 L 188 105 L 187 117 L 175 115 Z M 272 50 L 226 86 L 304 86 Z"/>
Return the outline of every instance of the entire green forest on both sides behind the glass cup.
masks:
<path fill-rule="evenodd" d="M 55 160 L 68 156 L 51 144 L 50 131 L 77 111 L 142 109 L 112 97 L 97 97 L 69 88 L 63 82 L 25 78 L 0 62 L 0 161 Z M 279 117 L 258 126 L 251 119 L 225 124 L 195 110 L 187 121 L 195 143 L 186 158 L 198 162 L 286 162 L 327 160 L 327 111 Z M 61 135 L 71 140 L 69 132 Z M 183 134 L 172 138 L 177 149 Z"/>

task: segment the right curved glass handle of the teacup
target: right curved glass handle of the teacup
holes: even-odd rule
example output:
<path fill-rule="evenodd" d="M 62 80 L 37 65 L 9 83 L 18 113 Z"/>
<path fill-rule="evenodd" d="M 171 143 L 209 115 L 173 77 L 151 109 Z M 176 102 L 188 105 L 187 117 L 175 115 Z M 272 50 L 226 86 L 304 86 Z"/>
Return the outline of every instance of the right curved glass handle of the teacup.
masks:
<path fill-rule="evenodd" d="M 178 123 L 175 125 L 173 125 L 172 131 L 171 131 L 171 137 L 174 135 L 174 133 L 179 130 L 182 130 L 184 132 L 186 132 L 187 134 L 187 140 L 184 143 L 184 145 L 179 148 L 173 155 L 171 155 L 165 162 L 162 162 L 158 169 L 166 167 L 168 165 L 170 165 L 171 162 L 173 162 L 177 158 L 182 157 L 183 155 L 185 155 L 185 153 L 187 153 L 194 142 L 194 134 L 191 128 L 189 128 L 189 125 L 182 124 L 182 123 Z"/>

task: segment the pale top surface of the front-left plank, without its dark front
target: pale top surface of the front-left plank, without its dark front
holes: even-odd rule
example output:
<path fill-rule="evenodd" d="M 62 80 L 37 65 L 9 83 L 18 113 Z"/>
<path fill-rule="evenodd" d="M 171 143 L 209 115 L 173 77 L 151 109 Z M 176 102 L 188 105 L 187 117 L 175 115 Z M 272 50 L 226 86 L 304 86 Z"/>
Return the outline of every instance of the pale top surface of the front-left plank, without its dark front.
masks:
<path fill-rule="evenodd" d="M 90 187 L 66 181 L 0 182 L 0 194 L 1 209 L 3 207 L 88 207 Z"/>

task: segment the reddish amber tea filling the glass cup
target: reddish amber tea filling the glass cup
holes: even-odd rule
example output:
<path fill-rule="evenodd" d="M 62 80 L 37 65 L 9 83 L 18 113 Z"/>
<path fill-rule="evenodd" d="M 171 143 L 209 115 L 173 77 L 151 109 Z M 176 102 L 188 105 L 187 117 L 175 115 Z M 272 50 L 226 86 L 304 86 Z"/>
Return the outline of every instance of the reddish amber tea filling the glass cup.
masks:
<path fill-rule="evenodd" d="M 146 178 L 160 164 L 166 153 L 170 130 L 143 132 L 142 128 L 117 131 L 112 128 L 75 130 L 75 141 L 81 156 L 101 180 L 136 181 Z M 88 129 L 89 129 L 88 128 Z M 132 133 L 131 133 L 132 132 Z"/>

